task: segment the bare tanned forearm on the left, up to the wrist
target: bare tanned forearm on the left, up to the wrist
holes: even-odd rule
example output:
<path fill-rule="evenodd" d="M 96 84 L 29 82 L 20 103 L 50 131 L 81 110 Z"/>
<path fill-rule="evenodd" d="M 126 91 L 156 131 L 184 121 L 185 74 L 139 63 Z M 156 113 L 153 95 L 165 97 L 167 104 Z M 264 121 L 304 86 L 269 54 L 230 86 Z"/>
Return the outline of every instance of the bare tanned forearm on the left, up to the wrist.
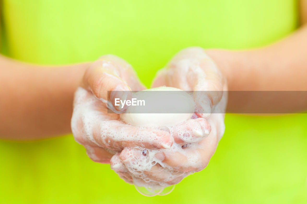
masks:
<path fill-rule="evenodd" d="M 38 139 L 70 133 L 73 93 L 88 63 L 34 66 L 0 56 L 0 137 Z"/>

